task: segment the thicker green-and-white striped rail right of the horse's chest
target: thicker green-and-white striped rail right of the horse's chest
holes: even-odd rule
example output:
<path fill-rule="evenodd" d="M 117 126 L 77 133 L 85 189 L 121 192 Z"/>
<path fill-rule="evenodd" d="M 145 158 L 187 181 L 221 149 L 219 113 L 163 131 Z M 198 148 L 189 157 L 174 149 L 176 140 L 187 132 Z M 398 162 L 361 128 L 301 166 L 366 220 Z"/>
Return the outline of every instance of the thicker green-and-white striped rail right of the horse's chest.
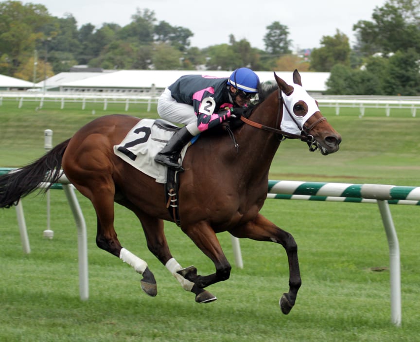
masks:
<path fill-rule="evenodd" d="M 420 187 L 269 180 L 267 198 L 420 205 Z"/>

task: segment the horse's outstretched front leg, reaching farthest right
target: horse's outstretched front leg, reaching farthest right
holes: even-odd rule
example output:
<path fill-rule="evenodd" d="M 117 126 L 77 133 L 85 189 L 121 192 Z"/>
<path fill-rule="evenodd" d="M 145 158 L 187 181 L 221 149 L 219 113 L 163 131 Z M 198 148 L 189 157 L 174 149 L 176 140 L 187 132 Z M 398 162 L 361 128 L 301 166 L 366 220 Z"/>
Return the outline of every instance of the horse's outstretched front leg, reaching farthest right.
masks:
<path fill-rule="evenodd" d="M 258 214 L 254 220 L 229 230 L 229 233 L 239 238 L 247 237 L 257 241 L 273 241 L 284 247 L 289 261 L 289 292 L 283 293 L 280 299 L 280 307 L 281 311 L 287 315 L 295 305 L 297 291 L 302 283 L 297 259 L 297 244 L 293 236 L 281 230 L 261 214 Z"/>

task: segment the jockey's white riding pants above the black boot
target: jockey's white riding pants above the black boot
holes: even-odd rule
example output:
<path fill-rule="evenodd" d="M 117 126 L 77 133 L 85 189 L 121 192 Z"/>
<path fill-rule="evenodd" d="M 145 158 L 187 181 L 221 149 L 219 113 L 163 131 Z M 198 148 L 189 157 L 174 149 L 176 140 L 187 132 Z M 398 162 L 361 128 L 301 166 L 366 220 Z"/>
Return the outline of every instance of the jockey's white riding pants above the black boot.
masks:
<path fill-rule="evenodd" d="M 176 102 L 172 97 L 171 90 L 166 88 L 157 100 L 157 114 L 162 119 L 176 124 L 186 125 L 187 130 L 196 136 L 200 131 L 197 127 L 197 116 L 194 108 L 185 103 Z"/>

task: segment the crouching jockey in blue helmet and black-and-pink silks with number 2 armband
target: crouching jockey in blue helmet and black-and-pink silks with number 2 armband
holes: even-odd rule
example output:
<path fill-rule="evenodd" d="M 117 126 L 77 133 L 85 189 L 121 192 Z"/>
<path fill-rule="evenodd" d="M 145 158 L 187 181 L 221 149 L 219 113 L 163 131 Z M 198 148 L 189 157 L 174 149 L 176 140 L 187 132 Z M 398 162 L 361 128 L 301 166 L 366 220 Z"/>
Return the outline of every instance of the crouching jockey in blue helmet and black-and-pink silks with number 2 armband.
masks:
<path fill-rule="evenodd" d="M 257 74 L 248 68 L 235 70 L 229 78 L 178 78 L 160 95 L 157 113 L 165 120 L 186 126 L 175 132 L 155 162 L 180 170 L 179 154 L 192 137 L 227 120 L 235 112 L 233 108 L 246 106 L 258 92 L 259 84 Z"/>

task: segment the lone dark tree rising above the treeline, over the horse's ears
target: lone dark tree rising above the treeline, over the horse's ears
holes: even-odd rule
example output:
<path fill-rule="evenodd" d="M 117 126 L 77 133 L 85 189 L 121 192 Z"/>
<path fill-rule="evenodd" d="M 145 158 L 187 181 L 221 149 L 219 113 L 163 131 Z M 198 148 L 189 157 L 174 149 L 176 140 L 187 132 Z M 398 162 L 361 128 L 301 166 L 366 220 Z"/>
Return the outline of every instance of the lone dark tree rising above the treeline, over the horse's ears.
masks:
<path fill-rule="evenodd" d="M 281 25 L 279 21 L 274 21 L 267 26 L 268 32 L 264 36 L 265 51 L 273 55 L 290 54 L 292 41 L 287 37 L 289 30 L 287 26 Z"/>

